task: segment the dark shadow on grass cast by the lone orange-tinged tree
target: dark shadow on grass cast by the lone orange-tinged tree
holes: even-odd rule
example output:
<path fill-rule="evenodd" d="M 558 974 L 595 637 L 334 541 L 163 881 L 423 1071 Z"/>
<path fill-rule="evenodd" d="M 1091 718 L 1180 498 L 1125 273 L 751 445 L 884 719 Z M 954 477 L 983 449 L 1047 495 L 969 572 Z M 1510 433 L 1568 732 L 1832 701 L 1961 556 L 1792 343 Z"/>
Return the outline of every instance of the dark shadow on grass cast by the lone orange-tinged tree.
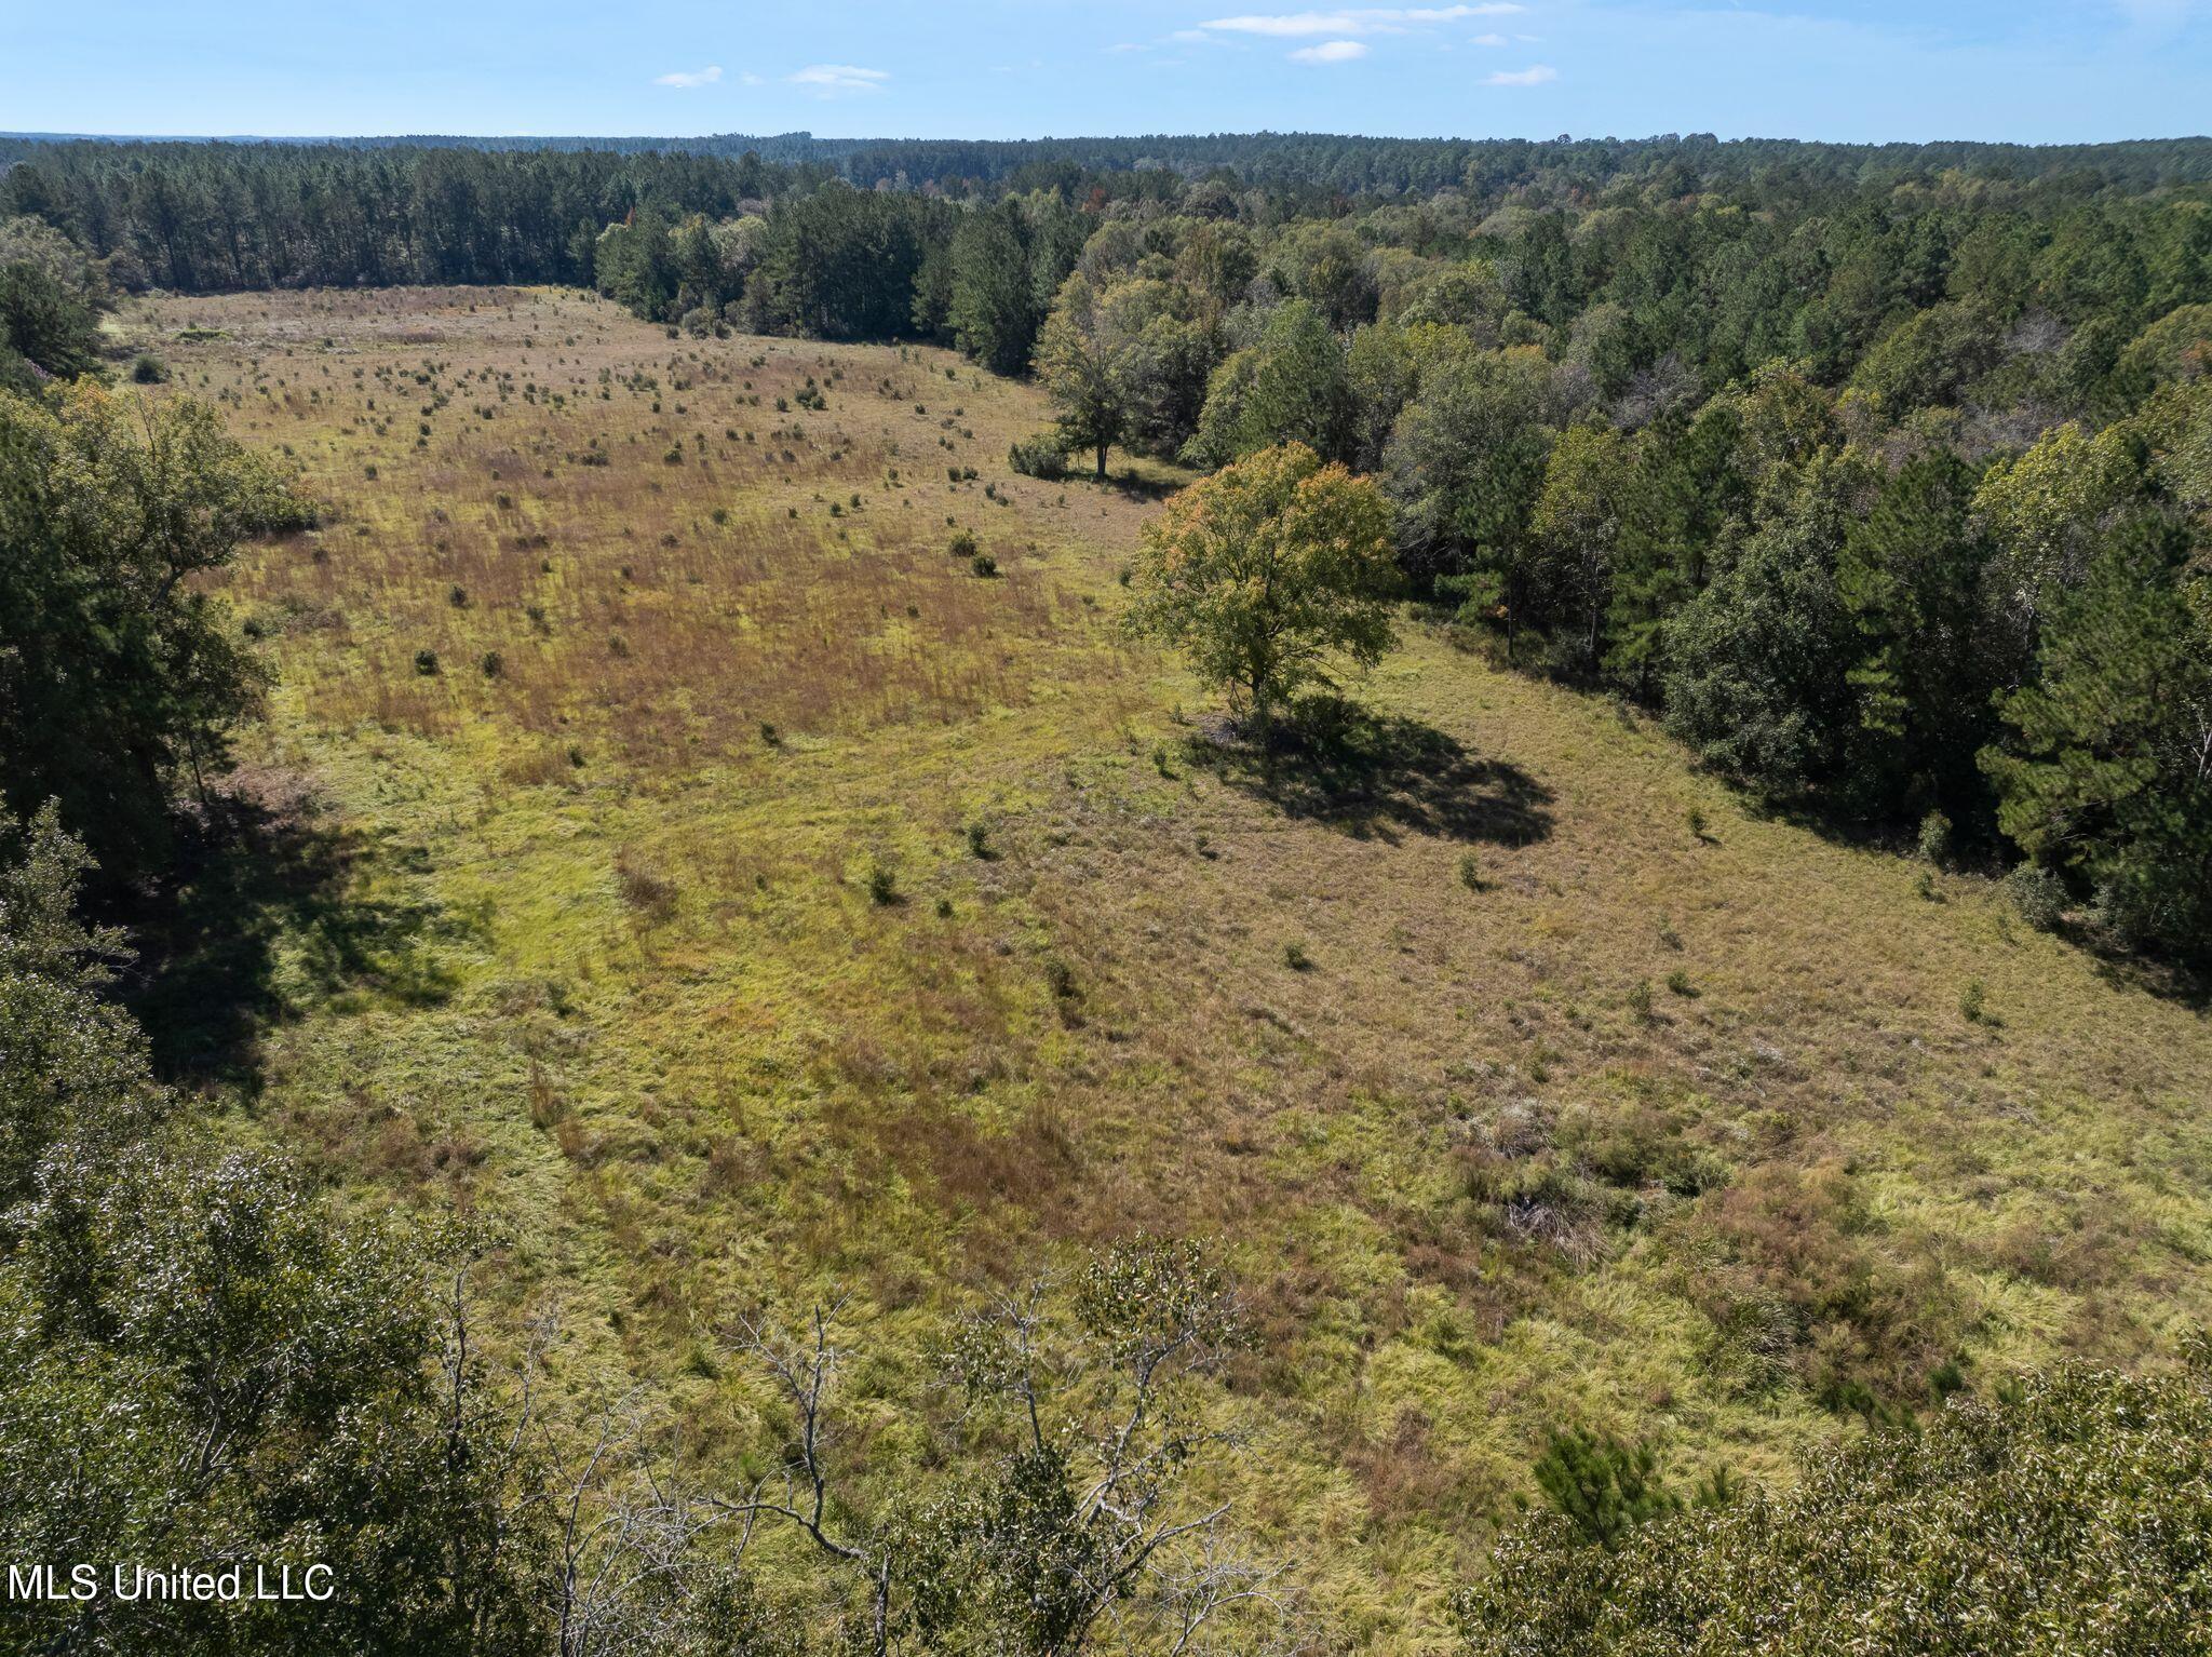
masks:
<path fill-rule="evenodd" d="M 1248 739 L 1230 723 L 1190 743 L 1194 763 L 1285 816 L 1360 841 L 1407 834 L 1531 845 L 1551 836 L 1551 790 L 1509 759 L 1478 759 L 1436 726 L 1316 697 Z"/>

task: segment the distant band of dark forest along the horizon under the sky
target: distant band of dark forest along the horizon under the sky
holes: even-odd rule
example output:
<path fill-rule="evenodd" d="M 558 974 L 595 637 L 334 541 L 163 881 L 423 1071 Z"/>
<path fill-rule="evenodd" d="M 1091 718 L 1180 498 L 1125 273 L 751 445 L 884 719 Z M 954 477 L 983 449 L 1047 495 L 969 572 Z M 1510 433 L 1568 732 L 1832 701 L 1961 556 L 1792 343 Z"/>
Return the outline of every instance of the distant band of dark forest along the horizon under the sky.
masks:
<path fill-rule="evenodd" d="M 743 148 L 739 148 L 743 146 Z M 595 279 L 593 239 L 650 206 L 670 221 L 765 212 L 834 181 L 920 197 L 1057 192 L 1274 226 L 1444 199 L 1462 230 L 1493 212 L 1582 212 L 1637 199 L 1725 201 L 1750 215 L 1858 212 L 1896 190 L 1962 181 L 2042 204 L 2212 179 L 2212 139 L 2097 146 L 1849 146 L 1657 139 L 1363 139 L 1219 135 L 1135 139 L 0 139 L 0 217 L 31 215 L 108 261 L 119 288 L 221 292 L 303 285 Z M 849 208 L 854 217 L 872 210 Z M 945 246 L 951 215 L 911 212 Z M 1418 223 L 1413 230 L 1418 232 Z M 1389 239 L 1405 239 L 1391 230 Z M 1420 252 L 1442 252 L 1429 243 Z M 916 265 L 894 263 L 885 281 Z M 863 310 L 902 312 L 907 301 Z M 796 321 L 796 319 L 794 319 Z M 849 330 L 841 330 L 849 332 Z"/>

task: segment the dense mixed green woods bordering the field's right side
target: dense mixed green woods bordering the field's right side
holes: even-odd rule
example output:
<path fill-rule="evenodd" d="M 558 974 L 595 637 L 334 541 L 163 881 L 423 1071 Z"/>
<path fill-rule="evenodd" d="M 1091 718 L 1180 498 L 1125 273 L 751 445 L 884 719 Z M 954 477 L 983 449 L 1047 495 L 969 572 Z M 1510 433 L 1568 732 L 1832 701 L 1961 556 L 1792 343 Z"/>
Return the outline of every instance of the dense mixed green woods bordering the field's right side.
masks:
<path fill-rule="evenodd" d="M 1053 440 L 1367 473 L 1409 591 L 1509 659 L 1770 803 L 2017 858 L 2039 925 L 2201 953 L 2212 210 L 1845 206 L 1646 195 L 1458 257 L 1389 210 L 1108 221 L 1040 327 Z"/>

